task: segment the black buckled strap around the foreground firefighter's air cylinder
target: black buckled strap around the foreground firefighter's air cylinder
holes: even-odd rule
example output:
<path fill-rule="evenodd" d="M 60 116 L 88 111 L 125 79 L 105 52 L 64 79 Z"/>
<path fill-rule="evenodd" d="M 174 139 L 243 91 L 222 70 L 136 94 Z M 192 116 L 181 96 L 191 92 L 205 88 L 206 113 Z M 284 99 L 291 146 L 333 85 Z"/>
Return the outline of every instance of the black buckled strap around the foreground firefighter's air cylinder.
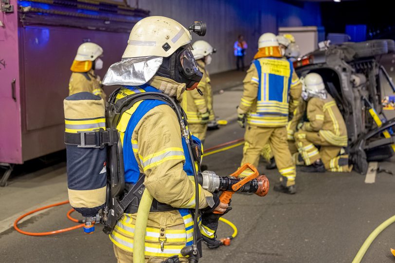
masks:
<path fill-rule="evenodd" d="M 76 145 L 78 148 L 104 148 L 106 145 L 117 143 L 118 134 L 115 129 L 65 132 L 65 144 Z"/>

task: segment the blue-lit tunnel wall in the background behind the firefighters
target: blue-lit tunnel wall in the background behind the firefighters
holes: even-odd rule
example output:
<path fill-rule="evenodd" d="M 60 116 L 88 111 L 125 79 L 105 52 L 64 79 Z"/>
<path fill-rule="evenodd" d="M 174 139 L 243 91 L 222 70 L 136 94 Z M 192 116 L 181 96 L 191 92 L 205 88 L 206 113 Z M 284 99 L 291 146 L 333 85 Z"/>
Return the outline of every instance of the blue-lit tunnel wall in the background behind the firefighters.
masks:
<path fill-rule="evenodd" d="M 136 0 L 129 0 L 136 7 Z M 151 16 L 168 16 L 184 26 L 192 21 L 207 22 L 207 34 L 193 34 L 193 41 L 204 39 L 217 53 L 208 67 L 211 73 L 234 69 L 233 44 L 243 34 L 249 49 L 245 64 L 249 65 L 259 36 L 265 32 L 277 33 L 278 27 L 321 26 L 319 3 L 280 0 L 138 0 L 138 7 L 150 10 Z"/>

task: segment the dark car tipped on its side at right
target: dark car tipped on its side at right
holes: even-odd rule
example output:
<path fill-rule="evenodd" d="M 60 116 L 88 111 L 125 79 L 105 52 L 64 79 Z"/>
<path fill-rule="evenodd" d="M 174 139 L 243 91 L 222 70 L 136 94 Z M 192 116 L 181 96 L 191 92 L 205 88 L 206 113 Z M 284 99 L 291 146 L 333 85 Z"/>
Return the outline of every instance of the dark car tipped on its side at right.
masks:
<path fill-rule="evenodd" d="M 393 155 L 395 118 L 382 114 L 384 79 L 395 92 L 393 82 L 379 56 L 395 50 L 394 40 L 345 42 L 325 46 L 294 62 L 296 72 L 304 77 L 315 72 L 323 77 L 326 90 L 336 100 L 348 131 L 348 147 L 354 168 L 365 174 L 368 163 Z M 394 147 L 395 148 L 395 147 Z"/>

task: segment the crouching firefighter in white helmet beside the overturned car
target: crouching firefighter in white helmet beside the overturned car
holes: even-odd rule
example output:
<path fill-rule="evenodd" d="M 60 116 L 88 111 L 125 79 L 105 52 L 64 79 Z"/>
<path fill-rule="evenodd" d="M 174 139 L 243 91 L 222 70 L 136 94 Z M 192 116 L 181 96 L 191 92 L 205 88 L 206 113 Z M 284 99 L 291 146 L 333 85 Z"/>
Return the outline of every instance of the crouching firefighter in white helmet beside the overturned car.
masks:
<path fill-rule="evenodd" d="M 307 101 L 307 118 L 301 129 L 295 132 L 295 144 L 305 161 L 305 172 L 350 172 L 348 155 L 339 155 L 347 146 L 347 128 L 343 116 L 317 73 L 309 73 L 305 79 L 302 96 Z M 318 149 L 316 146 L 320 146 Z"/>

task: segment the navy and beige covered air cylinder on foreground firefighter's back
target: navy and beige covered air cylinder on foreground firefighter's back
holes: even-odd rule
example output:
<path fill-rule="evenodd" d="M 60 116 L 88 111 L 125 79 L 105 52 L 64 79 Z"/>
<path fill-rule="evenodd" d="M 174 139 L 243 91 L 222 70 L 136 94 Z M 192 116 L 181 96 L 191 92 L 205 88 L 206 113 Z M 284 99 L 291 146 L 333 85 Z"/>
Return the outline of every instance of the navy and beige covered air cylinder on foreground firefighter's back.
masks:
<path fill-rule="evenodd" d="M 80 92 L 64 100 L 64 114 L 70 204 L 92 217 L 106 202 L 107 149 L 97 144 L 99 131 L 106 130 L 105 104 L 99 96 Z"/>

